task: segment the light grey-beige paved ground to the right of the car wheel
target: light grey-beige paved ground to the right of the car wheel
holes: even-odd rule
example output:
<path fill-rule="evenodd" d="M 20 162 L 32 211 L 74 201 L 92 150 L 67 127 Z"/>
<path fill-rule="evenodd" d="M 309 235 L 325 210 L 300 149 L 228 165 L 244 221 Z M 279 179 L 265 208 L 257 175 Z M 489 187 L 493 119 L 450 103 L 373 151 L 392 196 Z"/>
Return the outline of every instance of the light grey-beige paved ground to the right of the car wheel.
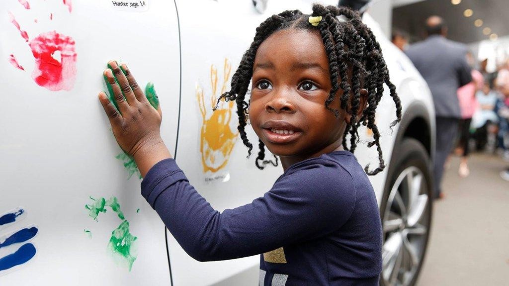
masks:
<path fill-rule="evenodd" d="M 469 177 L 453 158 L 446 197 L 435 201 L 431 240 L 418 286 L 509 285 L 509 182 L 499 157 L 473 154 Z"/>

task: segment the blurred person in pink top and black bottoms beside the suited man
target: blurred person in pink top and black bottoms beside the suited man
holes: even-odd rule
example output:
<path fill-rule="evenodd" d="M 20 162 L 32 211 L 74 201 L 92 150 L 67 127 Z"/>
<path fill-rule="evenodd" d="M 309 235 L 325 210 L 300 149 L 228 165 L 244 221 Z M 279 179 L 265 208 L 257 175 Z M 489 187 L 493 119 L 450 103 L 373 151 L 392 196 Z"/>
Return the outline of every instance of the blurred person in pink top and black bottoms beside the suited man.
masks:
<path fill-rule="evenodd" d="M 467 60 L 470 66 L 474 65 L 474 59 L 470 52 L 467 53 Z M 460 121 L 460 140 L 458 148 L 461 149 L 462 158 L 458 173 L 461 177 L 465 178 L 470 174 L 468 169 L 468 141 L 470 139 L 470 123 L 472 122 L 472 116 L 478 107 L 475 93 L 483 88 L 484 77 L 479 71 L 472 69 L 472 81 L 463 85 L 458 89 L 458 100 L 461 109 L 461 121 Z"/>

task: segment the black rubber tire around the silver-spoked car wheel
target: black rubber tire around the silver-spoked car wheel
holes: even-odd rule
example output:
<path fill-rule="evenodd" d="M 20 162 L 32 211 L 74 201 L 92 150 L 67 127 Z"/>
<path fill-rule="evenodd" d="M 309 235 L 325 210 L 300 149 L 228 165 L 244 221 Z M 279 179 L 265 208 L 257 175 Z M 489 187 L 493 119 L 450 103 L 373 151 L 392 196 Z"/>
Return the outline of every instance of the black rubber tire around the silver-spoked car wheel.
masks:
<path fill-rule="evenodd" d="M 402 172 L 409 167 L 417 168 L 423 175 L 423 192 L 428 194 L 428 201 L 426 204 L 427 212 L 423 214 L 423 217 L 427 219 L 427 232 L 423 235 L 423 250 L 421 252 L 419 258 L 419 264 L 416 268 L 416 272 L 413 275 L 410 283 L 408 285 L 414 285 L 419 276 L 420 270 L 422 268 L 422 263 L 426 255 L 426 249 L 428 247 L 428 241 L 431 230 L 432 223 L 432 210 L 433 210 L 433 177 L 431 171 L 431 160 L 428 152 L 425 147 L 416 139 L 413 138 L 403 138 L 403 140 L 397 144 L 394 148 L 391 163 L 389 165 L 389 170 L 387 174 L 387 180 L 384 187 L 384 192 L 380 204 L 380 216 L 382 219 L 382 228 L 384 227 L 384 214 L 386 213 L 386 208 L 389 199 L 389 193 L 394 186 L 395 181 L 397 181 L 398 177 L 402 174 Z M 385 230 L 383 232 L 383 242 L 385 243 L 387 240 Z M 383 271 L 383 270 L 382 270 Z M 383 275 L 383 272 L 382 272 Z M 385 283 L 383 277 L 380 277 L 380 285 L 389 286 L 390 284 Z"/>

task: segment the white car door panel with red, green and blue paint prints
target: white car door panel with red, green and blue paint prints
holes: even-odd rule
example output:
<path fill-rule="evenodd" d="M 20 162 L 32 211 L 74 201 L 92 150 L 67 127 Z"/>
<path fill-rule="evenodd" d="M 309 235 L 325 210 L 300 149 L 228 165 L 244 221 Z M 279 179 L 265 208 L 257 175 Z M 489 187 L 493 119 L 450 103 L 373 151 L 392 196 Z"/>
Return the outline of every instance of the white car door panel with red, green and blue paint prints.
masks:
<path fill-rule="evenodd" d="M 168 285 L 165 228 L 97 95 L 127 62 L 175 152 L 175 3 L 4 1 L 0 39 L 0 285 Z"/>

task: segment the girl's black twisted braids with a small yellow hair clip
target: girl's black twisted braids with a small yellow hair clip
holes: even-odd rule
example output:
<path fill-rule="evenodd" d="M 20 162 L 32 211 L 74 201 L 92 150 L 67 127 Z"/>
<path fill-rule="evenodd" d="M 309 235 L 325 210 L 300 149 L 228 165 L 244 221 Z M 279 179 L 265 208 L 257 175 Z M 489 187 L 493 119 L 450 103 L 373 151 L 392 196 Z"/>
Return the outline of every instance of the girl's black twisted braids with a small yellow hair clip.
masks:
<path fill-rule="evenodd" d="M 317 26 L 308 22 L 309 16 L 322 16 Z M 390 127 L 401 121 L 401 101 L 396 94 L 396 88 L 389 80 L 389 71 L 382 56 L 380 44 L 375 36 L 364 23 L 359 13 L 347 7 L 324 7 L 320 4 L 313 5 L 313 14 L 304 15 L 299 10 L 288 10 L 277 15 L 272 15 L 260 24 L 256 29 L 256 35 L 249 49 L 242 56 L 239 67 L 232 76 L 232 89 L 223 93 L 219 99 L 237 103 L 237 116 L 239 118 L 240 138 L 247 147 L 248 157 L 252 152 L 252 144 L 247 138 L 245 127 L 249 103 L 245 100 L 248 93 L 249 83 L 252 78 L 254 57 L 260 45 L 265 39 L 275 32 L 281 30 L 310 30 L 318 31 L 325 47 L 329 63 L 331 90 L 325 100 L 325 107 L 334 113 L 337 118 L 340 111 L 330 107 L 336 98 L 337 91 L 341 88 L 343 94 L 340 96 L 340 106 L 350 116 L 343 134 L 343 148 L 354 153 L 359 142 L 358 127 L 360 124 L 367 126 L 373 131 L 373 141 L 367 144 L 368 147 L 377 147 L 379 166 L 369 170 L 369 165 L 364 170 L 367 175 L 376 175 L 385 168 L 380 147 L 380 132 L 375 124 L 375 111 L 380 102 L 385 83 L 390 91 L 396 105 L 396 117 Z M 351 73 L 351 75 L 350 75 Z M 360 90 L 365 87 L 368 90 L 367 107 L 362 111 L 361 118 L 357 120 L 357 113 L 360 108 Z M 350 134 L 350 147 L 348 147 L 347 135 Z M 268 163 L 277 165 L 275 161 L 265 159 L 265 145 L 259 140 L 260 151 L 256 158 L 256 166 L 263 169 Z"/>

